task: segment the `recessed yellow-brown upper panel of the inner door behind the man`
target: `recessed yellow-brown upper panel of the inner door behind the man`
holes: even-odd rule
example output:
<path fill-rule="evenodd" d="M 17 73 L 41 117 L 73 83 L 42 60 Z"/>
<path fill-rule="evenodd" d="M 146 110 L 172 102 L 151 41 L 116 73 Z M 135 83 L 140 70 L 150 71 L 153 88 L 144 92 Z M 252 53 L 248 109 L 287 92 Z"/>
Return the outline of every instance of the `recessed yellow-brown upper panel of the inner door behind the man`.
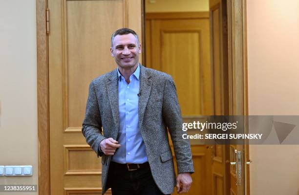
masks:
<path fill-rule="evenodd" d="M 162 30 L 161 31 L 161 63 L 160 70 L 171 74 L 180 94 L 179 103 L 184 115 L 194 115 L 203 112 L 200 84 L 201 56 L 200 31 L 188 30 Z M 175 57 L 176 56 L 176 57 Z M 183 58 L 182 56 L 188 56 Z M 184 74 L 182 74 L 184 73 Z M 188 85 L 184 85 L 188 84 Z M 184 85 L 184 86 L 182 86 Z M 181 95 L 184 94 L 184 95 Z"/>

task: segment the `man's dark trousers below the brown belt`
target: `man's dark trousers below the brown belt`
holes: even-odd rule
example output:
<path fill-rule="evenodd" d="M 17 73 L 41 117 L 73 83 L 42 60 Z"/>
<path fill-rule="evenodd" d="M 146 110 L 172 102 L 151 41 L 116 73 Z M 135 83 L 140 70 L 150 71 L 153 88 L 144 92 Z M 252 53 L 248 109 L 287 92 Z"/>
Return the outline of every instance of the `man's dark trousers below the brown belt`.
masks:
<path fill-rule="evenodd" d="M 149 166 L 128 171 L 111 162 L 108 179 L 112 195 L 164 195 L 155 184 Z"/>

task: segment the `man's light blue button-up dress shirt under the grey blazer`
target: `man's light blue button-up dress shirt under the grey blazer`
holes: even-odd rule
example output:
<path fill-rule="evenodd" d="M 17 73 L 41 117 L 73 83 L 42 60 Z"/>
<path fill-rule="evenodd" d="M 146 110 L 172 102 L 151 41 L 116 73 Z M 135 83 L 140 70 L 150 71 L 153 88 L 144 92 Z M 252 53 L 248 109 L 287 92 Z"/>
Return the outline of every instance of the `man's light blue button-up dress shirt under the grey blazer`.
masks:
<path fill-rule="evenodd" d="M 117 141 L 121 145 L 112 161 L 125 164 L 148 162 L 146 148 L 138 125 L 140 67 L 130 76 L 130 83 L 118 72 L 119 131 Z"/>

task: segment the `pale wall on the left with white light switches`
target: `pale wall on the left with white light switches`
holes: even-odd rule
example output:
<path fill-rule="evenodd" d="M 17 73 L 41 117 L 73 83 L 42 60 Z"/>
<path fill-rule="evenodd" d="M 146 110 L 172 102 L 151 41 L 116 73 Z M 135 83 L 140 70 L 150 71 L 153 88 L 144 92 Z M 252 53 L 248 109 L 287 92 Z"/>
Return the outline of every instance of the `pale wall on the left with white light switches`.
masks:
<path fill-rule="evenodd" d="M 0 165 L 33 166 L 0 184 L 38 184 L 36 0 L 0 0 Z"/>

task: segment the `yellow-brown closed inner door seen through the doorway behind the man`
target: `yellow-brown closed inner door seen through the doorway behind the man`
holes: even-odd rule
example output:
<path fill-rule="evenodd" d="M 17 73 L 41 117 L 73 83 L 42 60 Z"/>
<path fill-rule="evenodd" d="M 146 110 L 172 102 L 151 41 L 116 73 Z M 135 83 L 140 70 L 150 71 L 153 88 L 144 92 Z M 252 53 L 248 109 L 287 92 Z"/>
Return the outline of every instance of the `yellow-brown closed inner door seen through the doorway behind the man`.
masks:
<path fill-rule="evenodd" d="M 211 115 L 209 13 L 147 13 L 146 48 L 146 65 L 173 77 L 183 119 Z M 198 142 L 191 140 L 195 173 L 188 195 L 211 195 L 211 151 Z"/>

